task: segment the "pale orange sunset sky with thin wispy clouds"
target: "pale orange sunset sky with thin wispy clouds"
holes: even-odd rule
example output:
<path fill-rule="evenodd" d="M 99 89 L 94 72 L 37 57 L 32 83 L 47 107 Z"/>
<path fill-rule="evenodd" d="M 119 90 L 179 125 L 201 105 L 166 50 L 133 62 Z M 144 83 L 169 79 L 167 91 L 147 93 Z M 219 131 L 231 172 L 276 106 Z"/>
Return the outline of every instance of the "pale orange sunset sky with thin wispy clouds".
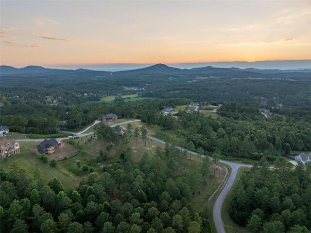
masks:
<path fill-rule="evenodd" d="M 0 0 L 14 67 L 311 59 L 311 1 Z"/>

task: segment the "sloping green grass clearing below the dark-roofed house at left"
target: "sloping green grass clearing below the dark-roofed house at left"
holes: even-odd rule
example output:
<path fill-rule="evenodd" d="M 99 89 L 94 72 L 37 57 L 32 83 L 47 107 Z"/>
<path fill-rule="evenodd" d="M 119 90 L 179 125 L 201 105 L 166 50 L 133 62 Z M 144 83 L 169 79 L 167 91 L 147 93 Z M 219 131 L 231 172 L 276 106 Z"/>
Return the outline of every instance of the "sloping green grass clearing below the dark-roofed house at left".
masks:
<path fill-rule="evenodd" d="M 38 159 L 39 155 L 29 150 L 32 148 L 32 144 L 20 144 L 20 154 L 10 156 L 6 159 L 0 160 L 0 166 L 3 170 L 10 169 L 11 166 L 18 166 L 26 170 L 29 176 L 33 176 L 35 169 L 37 168 L 43 175 L 43 179 L 46 182 L 51 181 L 54 177 L 57 177 L 62 182 L 66 190 L 75 188 L 79 184 L 79 179 L 67 171 L 59 163 L 56 167 L 51 167 L 49 163 L 44 163 Z"/>

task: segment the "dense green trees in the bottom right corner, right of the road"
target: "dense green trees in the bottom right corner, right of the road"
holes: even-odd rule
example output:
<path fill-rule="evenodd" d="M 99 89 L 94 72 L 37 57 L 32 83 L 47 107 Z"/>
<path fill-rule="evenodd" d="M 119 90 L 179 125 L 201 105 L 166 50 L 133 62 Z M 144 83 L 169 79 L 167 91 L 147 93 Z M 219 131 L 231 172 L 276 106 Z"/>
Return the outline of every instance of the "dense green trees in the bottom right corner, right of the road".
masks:
<path fill-rule="evenodd" d="M 229 215 L 248 233 L 309 233 L 311 229 L 311 165 L 275 171 L 261 160 L 235 187 Z"/>

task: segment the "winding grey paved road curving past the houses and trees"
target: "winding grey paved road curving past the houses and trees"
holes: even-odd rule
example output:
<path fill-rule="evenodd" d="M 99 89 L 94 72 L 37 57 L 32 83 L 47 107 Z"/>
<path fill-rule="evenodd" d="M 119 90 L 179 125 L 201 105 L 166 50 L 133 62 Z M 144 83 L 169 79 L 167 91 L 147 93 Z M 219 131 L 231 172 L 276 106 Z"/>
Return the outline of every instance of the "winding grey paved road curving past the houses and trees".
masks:
<path fill-rule="evenodd" d="M 119 124 L 114 124 L 114 125 L 111 125 L 111 127 L 114 127 L 116 125 L 125 125 L 125 124 L 128 124 L 128 123 L 132 123 L 132 122 L 138 122 L 140 120 L 134 120 L 134 121 L 127 121 L 127 122 L 122 122 L 122 123 L 119 123 Z M 79 136 L 79 137 L 85 137 L 85 136 L 88 136 L 88 135 L 91 135 L 94 133 L 93 132 L 89 132 L 89 133 L 86 133 L 86 134 L 83 134 L 86 130 L 88 130 L 90 127 L 98 124 L 99 122 L 95 121 L 93 125 L 87 127 L 85 130 L 79 132 L 79 133 L 73 133 L 75 134 L 76 136 Z M 72 132 L 70 132 L 72 133 Z M 158 138 L 155 138 L 153 136 L 147 136 L 149 139 L 151 140 L 154 140 L 155 142 L 158 142 L 158 143 L 162 143 L 162 144 L 165 144 L 164 141 L 158 139 Z M 61 138 L 61 140 L 65 140 L 65 139 L 68 139 L 68 138 Z M 42 142 L 44 139 L 22 139 L 22 140 L 16 140 L 17 142 Z M 183 147 L 180 147 L 180 146 L 177 146 L 178 149 L 180 150 L 184 150 L 185 148 Z M 190 152 L 190 151 L 189 151 Z M 193 155 L 196 155 L 198 156 L 198 154 L 194 151 L 191 151 L 191 154 Z M 212 158 L 209 158 L 209 159 L 212 159 Z M 221 163 L 225 163 L 227 165 L 229 165 L 231 167 L 231 174 L 229 176 L 229 179 L 227 181 L 227 183 L 225 184 L 225 187 L 224 189 L 221 191 L 220 195 L 217 197 L 217 200 L 213 206 L 213 215 L 214 215 L 214 222 L 215 222 L 215 227 L 216 227 L 216 230 L 217 230 L 217 233 L 225 233 L 225 228 L 224 228 L 224 225 L 223 225 L 223 221 L 222 221 L 222 216 L 221 216 L 221 207 L 222 207 L 222 204 L 225 200 L 225 197 L 227 196 L 227 194 L 229 193 L 230 189 L 232 188 L 232 185 L 237 177 L 237 174 L 238 174 L 238 171 L 240 169 L 240 167 L 253 167 L 252 165 L 248 165 L 248 164 L 240 164 L 240 163 L 235 163 L 235 162 L 230 162 L 230 161 L 225 161 L 225 160 L 220 160 Z"/>

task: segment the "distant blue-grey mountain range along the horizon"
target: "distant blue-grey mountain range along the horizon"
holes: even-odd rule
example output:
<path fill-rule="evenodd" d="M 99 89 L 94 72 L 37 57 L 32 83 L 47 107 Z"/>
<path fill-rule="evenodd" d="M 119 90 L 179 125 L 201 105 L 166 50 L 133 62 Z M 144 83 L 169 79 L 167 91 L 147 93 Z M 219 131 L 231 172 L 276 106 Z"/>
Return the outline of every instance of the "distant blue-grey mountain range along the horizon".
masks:
<path fill-rule="evenodd" d="M 104 71 L 94 71 L 87 69 L 77 69 L 77 70 L 62 70 L 62 69 L 49 69 L 41 66 L 27 66 L 24 68 L 17 69 L 11 66 L 0 66 L 0 75 L 12 75 L 12 74 L 32 74 L 32 75 L 57 75 L 57 74 L 75 74 L 75 73 L 87 73 L 95 75 L 109 75 L 109 76 L 123 76 L 123 75 L 217 75 L 217 74 L 243 74 L 242 76 L 252 76 L 254 73 L 262 74 L 274 74 L 274 73 L 311 73 L 311 69 L 303 70 L 279 70 L 279 69 L 255 69 L 255 68 L 215 68 L 211 66 L 192 68 L 192 69 L 179 69 L 173 68 L 164 64 L 156 64 L 153 66 L 128 70 L 128 71 L 118 71 L 118 72 L 104 72 Z"/>

